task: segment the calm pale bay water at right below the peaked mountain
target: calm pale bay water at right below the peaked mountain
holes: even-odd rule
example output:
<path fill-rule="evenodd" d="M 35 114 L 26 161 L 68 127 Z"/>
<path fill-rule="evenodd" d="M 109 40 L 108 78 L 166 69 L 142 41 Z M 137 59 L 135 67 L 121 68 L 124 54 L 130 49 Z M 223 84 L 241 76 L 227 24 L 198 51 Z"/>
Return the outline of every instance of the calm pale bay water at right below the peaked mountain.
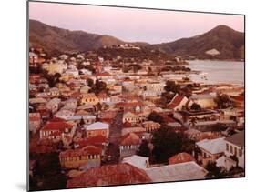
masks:
<path fill-rule="evenodd" d="M 200 71 L 201 75 L 190 75 L 190 79 L 201 83 L 228 83 L 244 85 L 244 62 L 240 61 L 189 61 L 189 68 Z"/>

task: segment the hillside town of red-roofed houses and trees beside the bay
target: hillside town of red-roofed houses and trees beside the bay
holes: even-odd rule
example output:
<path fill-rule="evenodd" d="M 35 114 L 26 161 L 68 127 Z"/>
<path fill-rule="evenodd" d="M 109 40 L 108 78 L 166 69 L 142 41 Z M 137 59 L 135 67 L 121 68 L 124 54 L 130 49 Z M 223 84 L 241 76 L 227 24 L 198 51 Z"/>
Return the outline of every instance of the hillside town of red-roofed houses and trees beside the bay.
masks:
<path fill-rule="evenodd" d="M 139 45 L 29 51 L 31 189 L 244 176 L 244 86 Z"/>

